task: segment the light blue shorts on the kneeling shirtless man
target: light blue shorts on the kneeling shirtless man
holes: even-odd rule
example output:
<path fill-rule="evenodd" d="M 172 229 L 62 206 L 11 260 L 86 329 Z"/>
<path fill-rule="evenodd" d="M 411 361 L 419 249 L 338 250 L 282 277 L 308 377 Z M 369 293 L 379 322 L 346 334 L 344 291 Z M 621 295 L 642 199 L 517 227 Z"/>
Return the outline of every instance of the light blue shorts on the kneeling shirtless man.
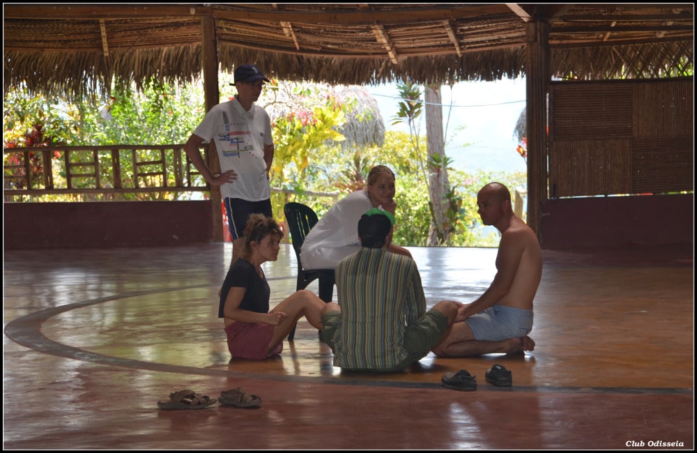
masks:
<path fill-rule="evenodd" d="M 465 322 L 477 340 L 520 338 L 533 330 L 533 310 L 494 305 L 470 316 Z"/>

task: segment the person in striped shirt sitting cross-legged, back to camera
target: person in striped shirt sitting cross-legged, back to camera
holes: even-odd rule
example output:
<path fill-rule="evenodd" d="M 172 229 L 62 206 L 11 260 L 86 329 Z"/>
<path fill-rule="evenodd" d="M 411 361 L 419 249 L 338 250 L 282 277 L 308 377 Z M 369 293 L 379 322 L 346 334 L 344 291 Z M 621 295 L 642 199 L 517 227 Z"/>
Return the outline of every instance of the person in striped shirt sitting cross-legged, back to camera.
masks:
<path fill-rule="evenodd" d="M 372 208 L 358 221 L 361 248 L 336 267 L 339 303 L 322 309 L 322 340 L 335 367 L 401 371 L 424 358 L 452 325 L 461 304 L 443 300 L 426 310 L 411 256 L 388 251 L 392 213 Z"/>

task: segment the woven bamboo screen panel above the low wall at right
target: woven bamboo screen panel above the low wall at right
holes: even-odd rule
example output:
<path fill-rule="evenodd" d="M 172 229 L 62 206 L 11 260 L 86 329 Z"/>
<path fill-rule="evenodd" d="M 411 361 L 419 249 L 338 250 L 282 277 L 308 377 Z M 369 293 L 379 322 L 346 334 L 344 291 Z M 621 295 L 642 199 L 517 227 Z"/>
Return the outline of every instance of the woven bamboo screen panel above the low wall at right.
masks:
<path fill-rule="evenodd" d="M 555 82 L 551 198 L 694 191 L 693 79 Z"/>

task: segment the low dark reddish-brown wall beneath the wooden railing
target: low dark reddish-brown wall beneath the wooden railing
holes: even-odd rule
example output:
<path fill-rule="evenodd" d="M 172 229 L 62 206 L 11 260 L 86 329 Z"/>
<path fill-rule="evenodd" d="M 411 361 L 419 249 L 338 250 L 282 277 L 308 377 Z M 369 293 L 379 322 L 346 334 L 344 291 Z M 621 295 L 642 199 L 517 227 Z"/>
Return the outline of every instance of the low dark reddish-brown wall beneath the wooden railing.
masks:
<path fill-rule="evenodd" d="M 209 243 L 210 206 L 208 200 L 6 203 L 4 249 Z"/>

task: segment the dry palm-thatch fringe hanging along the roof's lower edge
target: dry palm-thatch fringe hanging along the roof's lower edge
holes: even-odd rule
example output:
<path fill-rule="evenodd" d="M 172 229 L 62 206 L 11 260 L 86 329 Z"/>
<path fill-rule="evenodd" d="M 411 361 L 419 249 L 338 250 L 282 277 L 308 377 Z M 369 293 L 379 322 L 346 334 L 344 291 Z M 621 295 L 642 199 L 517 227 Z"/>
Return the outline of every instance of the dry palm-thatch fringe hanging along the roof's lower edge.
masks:
<path fill-rule="evenodd" d="M 229 72 L 240 63 L 255 63 L 270 77 L 332 85 L 452 84 L 526 75 L 523 46 L 462 56 L 405 57 L 397 65 L 386 59 L 299 56 L 229 44 L 218 45 L 218 58 L 220 69 Z M 8 49 L 3 66 L 6 91 L 25 84 L 31 91 L 62 93 L 68 98 L 95 95 L 104 98 L 114 79 L 132 81 L 137 86 L 151 77 L 161 82 L 192 82 L 201 75 L 201 45 L 114 50 L 109 56 L 101 51 Z M 685 40 L 553 49 L 550 72 L 558 77 L 576 79 L 651 78 L 677 75 L 691 66 L 694 66 L 694 42 Z"/>

